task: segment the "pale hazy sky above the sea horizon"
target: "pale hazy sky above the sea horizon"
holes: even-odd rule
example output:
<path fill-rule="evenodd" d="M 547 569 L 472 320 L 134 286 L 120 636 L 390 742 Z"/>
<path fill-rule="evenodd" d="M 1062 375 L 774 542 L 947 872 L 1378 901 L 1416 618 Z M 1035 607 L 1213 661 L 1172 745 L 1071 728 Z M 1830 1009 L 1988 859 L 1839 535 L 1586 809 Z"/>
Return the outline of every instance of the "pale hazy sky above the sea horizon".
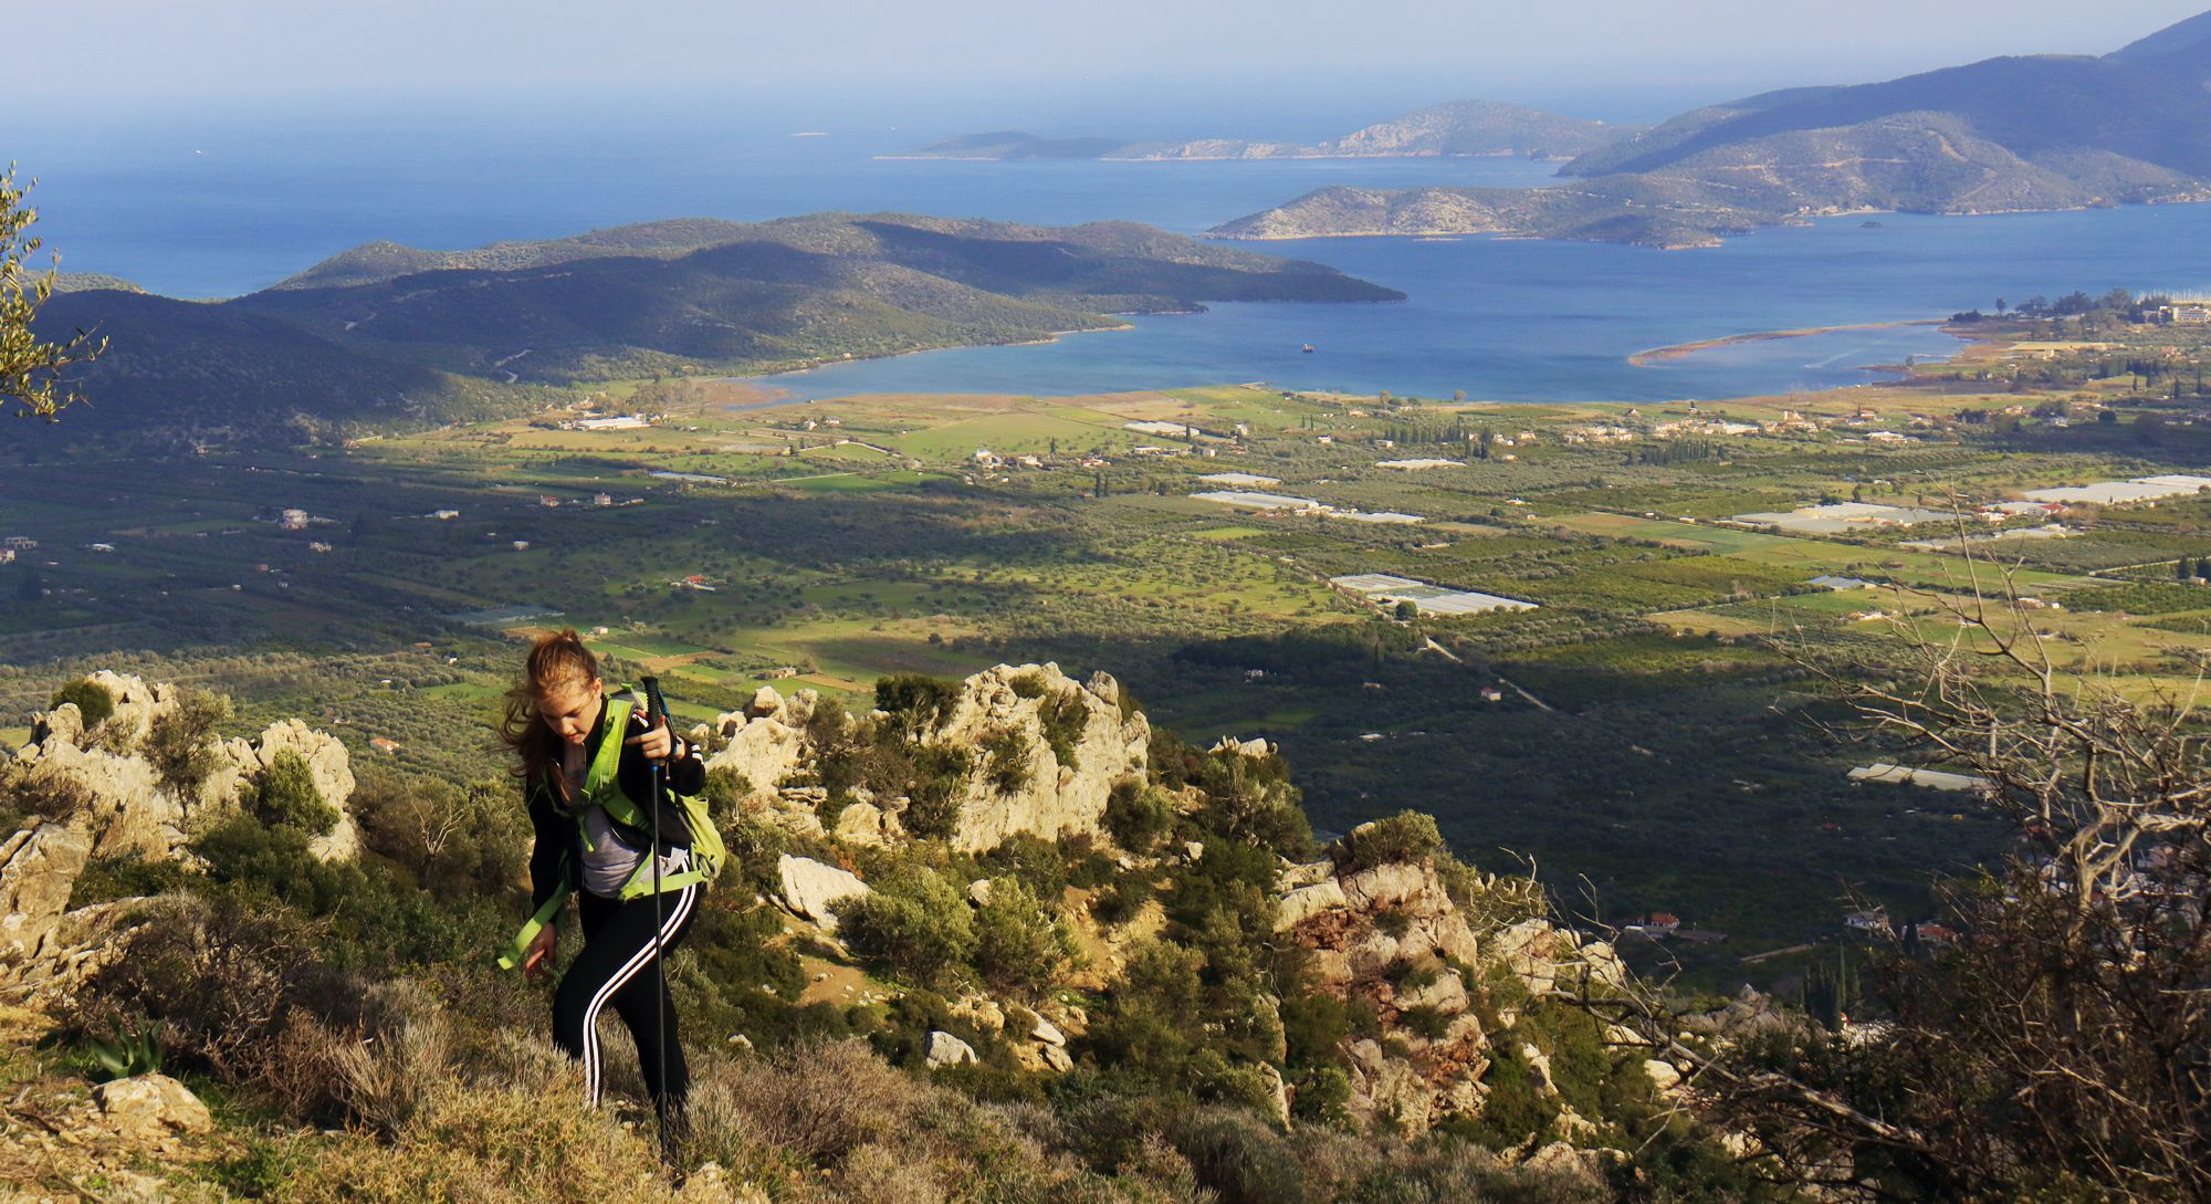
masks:
<path fill-rule="evenodd" d="M 723 89 L 800 102 L 1495 95 L 1857 82 L 2105 53 L 2211 0 L 71 0 L 18 7 L 38 115 L 168 97 Z M 1256 93 L 1251 93 L 1256 89 Z"/>

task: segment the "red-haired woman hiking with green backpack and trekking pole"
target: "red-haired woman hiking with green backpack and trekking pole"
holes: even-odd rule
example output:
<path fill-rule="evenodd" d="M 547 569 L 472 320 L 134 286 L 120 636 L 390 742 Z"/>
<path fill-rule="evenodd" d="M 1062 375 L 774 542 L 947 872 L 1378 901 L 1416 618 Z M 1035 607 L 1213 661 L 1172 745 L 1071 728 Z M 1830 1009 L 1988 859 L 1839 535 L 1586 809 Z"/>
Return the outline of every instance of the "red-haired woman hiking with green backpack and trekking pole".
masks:
<path fill-rule="evenodd" d="M 690 1073 L 661 961 L 683 941 L 721 863 L 721 837 L 696 799 L 705 764 L 666 719 L 606 697 L 599 662 L 575 631 L 531 646 L 500 737 L 520 755 L 515 772 L 537 832 L 533 916 L 500 965 L 520 963 L 528 978 L 551 969 L 562 903 L 577 894 L 584 949 L 553 996 L 553 1040 L 584 1062 L 584 1100 L 597 1104 L 597 1025 L 612 1007 L 637 1040 L 666 1140 Z M 654 830 L 659 865 L 646 857 Z"/>

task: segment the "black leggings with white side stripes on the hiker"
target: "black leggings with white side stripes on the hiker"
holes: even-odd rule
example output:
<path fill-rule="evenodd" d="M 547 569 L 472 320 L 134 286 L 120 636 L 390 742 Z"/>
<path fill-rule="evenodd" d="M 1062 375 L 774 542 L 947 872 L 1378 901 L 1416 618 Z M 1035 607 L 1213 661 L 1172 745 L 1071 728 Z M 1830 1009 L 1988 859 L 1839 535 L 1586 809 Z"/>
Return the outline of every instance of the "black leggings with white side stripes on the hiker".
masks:
<path fill-rule="evenodd" d="M 661 894 L 661 952 L 674 949 L 690 932 L 703 885 Z M 599 1104 L 599 1011 L 608 1003 L 637 1042 L 646 1091 L 654 1102 L 683 1104 L 690 1071 L 677 1040 L 677 1005 L 661 992 L 661 963 L 652 956 L 652 896 L 617 901 L 577 892 L 584 918 L 584 952 L 553 994 L 553 1042 L 584 1060 L 584 1102 Z M 654 1011 L 659 1018 L 654 1020 Z M 661 1036 L 668 1047 L 668 1082 L 661 1082 Z"/>

